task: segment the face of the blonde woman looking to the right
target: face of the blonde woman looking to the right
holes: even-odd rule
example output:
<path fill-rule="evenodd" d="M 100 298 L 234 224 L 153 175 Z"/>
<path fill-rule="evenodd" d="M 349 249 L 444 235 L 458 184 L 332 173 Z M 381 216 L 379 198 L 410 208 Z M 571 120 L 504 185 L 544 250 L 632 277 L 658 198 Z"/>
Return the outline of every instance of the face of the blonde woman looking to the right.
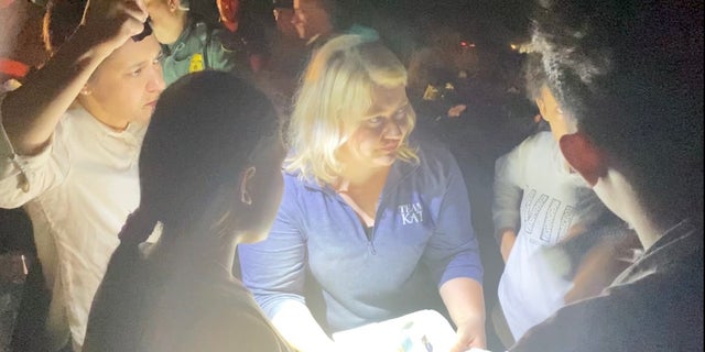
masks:
<path fill-rule="evenodd" d="M 339 158 L 351 165 L 389 166 L 411 129 L 412 108 L 404 86 L 372 88 L 372 106 L 340 147 Z"/>

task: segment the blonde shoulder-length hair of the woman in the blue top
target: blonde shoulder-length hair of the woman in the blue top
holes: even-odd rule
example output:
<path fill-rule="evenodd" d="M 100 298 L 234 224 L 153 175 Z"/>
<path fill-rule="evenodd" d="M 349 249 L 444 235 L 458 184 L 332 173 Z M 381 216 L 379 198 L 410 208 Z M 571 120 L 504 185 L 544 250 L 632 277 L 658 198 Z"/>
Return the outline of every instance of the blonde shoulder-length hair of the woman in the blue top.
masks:
<path fill-rule="evenodd" d="M 296 94 L 288 135 L 292 152 L 284 169 L 332 184 L 341 170 L 336 152 L 372 106 L 373 87 L 405 85 L 403 64 L 378 41 L 354 34 L 328 41 L 308 63 Z M 411 132 L 415 114 L 409 111 Z M 398 155 L 406 162 L 417 161 L 406 140 Z"/>

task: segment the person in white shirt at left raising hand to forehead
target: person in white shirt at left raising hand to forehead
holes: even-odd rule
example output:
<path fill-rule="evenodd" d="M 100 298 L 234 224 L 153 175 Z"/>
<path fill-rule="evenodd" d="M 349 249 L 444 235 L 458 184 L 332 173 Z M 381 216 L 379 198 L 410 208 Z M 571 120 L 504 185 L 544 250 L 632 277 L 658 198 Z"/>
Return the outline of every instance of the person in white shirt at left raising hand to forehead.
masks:
<path fill-rule="evenodd" d="M 80 351 L 117 234 L 139 204 L 139 151 L 164 88 L 141 0 L 91 1 L 82 19 L 83 8 L 50 7 L 54 55 L 0 97 L 0 207 L 24 205 L 32 219 L 52 351 Z"/>

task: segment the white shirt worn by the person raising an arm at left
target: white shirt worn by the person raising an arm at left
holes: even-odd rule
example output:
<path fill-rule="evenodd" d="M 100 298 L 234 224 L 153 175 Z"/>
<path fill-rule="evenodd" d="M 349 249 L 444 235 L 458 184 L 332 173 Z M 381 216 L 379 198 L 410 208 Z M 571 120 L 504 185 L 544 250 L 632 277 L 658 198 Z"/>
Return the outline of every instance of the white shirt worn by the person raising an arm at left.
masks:
<path fill-rule="evenodd" d="M 51 144 L 36 155 L 20 156 L 0 125 L 0 207 L 25 205 L 32 219 L 52 290 L 47 329 L 56 349 L 70 337 L 80 351 L 117 235 L 139 206 L 138 162 L 145 131 L 130 124 L 116 132 L 84 109 L 70 109 Z"/>

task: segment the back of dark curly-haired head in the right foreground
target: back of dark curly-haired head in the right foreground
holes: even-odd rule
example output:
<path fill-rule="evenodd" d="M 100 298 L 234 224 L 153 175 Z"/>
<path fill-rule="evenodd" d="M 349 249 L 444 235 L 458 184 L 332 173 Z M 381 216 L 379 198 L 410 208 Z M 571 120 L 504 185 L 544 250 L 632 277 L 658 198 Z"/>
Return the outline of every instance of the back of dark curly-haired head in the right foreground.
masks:
<path fill-rule="evenodd" d="M 543 0 L 532 45 L 567 114 L 660 226 L 703 213 L 703 2 Z"/>

